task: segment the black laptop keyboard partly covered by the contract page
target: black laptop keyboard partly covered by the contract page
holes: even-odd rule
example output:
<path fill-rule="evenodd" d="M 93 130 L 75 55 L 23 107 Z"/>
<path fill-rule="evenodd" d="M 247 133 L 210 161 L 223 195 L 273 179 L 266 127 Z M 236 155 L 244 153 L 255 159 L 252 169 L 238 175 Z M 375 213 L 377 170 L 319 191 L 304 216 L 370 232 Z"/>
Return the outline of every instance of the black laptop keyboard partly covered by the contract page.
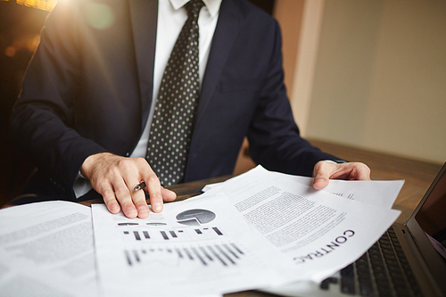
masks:
<path fill-rule="evenodd" d="M 320 288 L 338 284 L 341 293 L 357 296 L 423 296 L 401 244 L 390 227 L 359 260 L 328 277 Z"/>

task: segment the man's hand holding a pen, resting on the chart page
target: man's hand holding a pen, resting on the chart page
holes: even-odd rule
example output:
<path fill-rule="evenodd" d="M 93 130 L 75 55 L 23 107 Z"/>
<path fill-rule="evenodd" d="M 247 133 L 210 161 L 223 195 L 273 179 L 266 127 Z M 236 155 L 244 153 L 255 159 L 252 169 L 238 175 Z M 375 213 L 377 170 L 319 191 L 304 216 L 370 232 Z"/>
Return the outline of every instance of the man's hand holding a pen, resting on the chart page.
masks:
<path fill-rule="evenodd" d="M 160 180 L 143 158 L 125 158 L 112 153 L 97 153 L 82 164 L 81 173 L 91 186 L 103 195 L 103 202 L 111 213 L 122 212 L 128 218 L 145 219 L 149 208 L 144 191 L 133 189 L 142 181 L 150 195 L 154 212 L 161 212 L 163 201 L 171 202 L 177 194 L 161 186 Z"/>

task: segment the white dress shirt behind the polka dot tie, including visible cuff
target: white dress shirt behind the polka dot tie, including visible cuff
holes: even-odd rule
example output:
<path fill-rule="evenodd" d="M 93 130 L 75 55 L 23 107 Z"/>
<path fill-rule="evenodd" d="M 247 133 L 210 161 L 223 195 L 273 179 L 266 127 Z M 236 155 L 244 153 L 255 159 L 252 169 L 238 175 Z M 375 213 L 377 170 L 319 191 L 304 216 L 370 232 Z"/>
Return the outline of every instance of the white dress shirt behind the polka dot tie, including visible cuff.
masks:
<path fill-rule="evenodd" d="M 153 119 L 153 111 L 161 85 L 161 78 L 169 60 L 170 53 L 177 41 L 179 32 L 187 20 L 187 12 L 183 6 L 189 0 L 159 0 L 158 1 L 158 23 L 156 31 L 155 61 L 153 70 L 153 100 L 145 129 L 135 150 L 130 154 L 130 158 L 145 158 L 149 132 Z M 208 62 L 211 50 L 211 41 L 219 19 L 219 8 L 221 0 L 202 0 L 204 6 L 198 18 L 200 29 L 199 37 L 199 74 L 200 82 L 204 77 L 204 70 Z M 74 183 L 74 193 L 76 197 L 87 194 L 91 190 L 89 181 L 79 177 Z"/>

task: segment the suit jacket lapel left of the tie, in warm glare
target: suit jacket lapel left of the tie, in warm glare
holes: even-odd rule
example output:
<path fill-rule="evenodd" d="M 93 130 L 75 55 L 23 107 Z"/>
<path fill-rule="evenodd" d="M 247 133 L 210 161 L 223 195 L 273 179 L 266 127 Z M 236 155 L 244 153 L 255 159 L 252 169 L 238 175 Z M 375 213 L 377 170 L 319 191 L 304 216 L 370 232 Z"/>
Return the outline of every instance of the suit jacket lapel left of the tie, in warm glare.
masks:
<path fill-rule="evenodd" d="M 135 44 L 136 65 L 139 78 L 142 122 L 144 129 L 153 95 L 153 65 L 155 58 L 157 0 L 130 0 L 130 18 Z"/>

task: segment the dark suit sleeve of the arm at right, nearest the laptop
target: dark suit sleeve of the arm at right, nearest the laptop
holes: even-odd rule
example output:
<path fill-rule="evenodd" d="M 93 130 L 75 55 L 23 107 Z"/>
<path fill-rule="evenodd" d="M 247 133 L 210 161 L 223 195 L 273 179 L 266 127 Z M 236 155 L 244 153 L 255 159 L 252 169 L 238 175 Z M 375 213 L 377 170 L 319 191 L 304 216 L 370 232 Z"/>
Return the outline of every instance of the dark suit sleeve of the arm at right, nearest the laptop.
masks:
<path fill-rule="evenodd" d="M 269 40 L 274 44 L 260 103 L 248 132 L 252 160 L 270 170 L 311 176 L 318 161 L 339 160 L 321 152 L 300 136 L 286 95 L 282 67 L 281 36 L 274 21 Z"/>

